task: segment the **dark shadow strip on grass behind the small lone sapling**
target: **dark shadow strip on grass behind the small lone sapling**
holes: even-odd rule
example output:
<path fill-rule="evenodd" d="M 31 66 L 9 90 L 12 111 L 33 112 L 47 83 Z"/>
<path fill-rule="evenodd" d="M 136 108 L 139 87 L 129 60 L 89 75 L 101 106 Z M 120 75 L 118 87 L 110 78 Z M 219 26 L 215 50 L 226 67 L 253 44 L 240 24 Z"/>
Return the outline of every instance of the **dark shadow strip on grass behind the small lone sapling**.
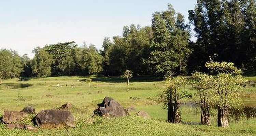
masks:
<path fill-rule="evenodd" d="M 100 82 L 110 82 L 110 83 L 126 82 L 126 79 L 122 79 L 120 77 L 94 77 L 92 78 L 92 80 L 100 81 Z M 85 80 L 81 80 L 81 81 L 85 81 Z M 134 77 L 130 79 L 130 82 L 155 82 L 155 81 L 162 81 L 162 80 L 156 77 L 149 77 L 149 76 Z"/>

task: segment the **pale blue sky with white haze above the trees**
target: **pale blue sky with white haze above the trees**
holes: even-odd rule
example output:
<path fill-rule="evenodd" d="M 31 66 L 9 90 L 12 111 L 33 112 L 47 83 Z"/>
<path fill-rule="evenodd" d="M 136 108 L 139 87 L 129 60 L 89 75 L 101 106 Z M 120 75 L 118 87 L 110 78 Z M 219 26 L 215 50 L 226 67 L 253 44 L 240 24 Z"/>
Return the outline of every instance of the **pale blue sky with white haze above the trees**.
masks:
<path fill-rule="evenodd" d="M 122 35 L 130 24 L 150 26 L 155 11 L 170 3 L 185 16 L 197 0 L 2 0 L 0 49 L 19 55 L 47 44 L 75 41 L 77 45 L 102 47 L 104 37 Z"/>

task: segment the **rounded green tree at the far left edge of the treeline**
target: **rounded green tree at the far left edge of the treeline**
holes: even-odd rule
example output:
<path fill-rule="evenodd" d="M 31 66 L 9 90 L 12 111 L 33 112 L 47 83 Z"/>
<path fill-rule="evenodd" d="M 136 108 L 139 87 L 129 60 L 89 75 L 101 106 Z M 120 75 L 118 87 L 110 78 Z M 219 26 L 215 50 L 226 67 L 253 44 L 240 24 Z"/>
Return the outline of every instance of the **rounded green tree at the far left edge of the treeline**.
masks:
<path fill-rule="evenodd" d="M 0 50 L 0 78 L 18 78 L 22 71 L 20 56 L 16 51 Z"/>

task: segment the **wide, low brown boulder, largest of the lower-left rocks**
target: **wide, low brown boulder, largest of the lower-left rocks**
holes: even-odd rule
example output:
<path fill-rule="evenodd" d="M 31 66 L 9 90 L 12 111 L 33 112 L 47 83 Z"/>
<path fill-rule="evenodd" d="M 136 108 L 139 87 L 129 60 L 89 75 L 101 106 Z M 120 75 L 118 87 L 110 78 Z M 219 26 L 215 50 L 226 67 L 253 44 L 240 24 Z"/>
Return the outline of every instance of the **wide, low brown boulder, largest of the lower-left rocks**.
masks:
<path fill-rule="evenodd" d="M 32 120 L 34 125 L 41 128 L 74 127 L 74 116 L 69 111 L 47 109 L 40 111 Z"/>

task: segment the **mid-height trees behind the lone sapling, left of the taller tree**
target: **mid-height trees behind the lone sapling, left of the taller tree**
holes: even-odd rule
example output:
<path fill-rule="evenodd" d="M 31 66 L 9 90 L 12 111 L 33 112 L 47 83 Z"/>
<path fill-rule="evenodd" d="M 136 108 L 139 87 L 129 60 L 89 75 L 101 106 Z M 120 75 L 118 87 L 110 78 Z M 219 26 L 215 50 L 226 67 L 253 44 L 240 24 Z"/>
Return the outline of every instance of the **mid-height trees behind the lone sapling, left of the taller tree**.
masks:
<path fill-rule="evenodd" d="M 122 37 L 113 37 L 113 43 L 103 41 L 105 74 L 120 75 L 126 69 L 137 75 L 149 74 L 147 59 L 152 38 L 151 27 L 141 28 L 131 24 L 129 27 L 124 26 Z"/>

